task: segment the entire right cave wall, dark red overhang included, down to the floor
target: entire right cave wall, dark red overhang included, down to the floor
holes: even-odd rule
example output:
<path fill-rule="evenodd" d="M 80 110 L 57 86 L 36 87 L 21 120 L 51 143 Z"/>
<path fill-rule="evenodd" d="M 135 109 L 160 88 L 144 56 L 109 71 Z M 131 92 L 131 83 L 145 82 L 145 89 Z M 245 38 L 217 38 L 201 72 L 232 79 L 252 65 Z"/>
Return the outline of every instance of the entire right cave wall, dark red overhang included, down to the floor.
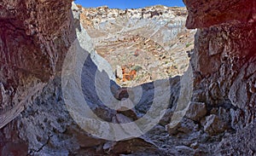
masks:
<path fill-rule="evenodd" d="M 236 135 L 224 138 L 218 153 L 253 155 L 256 1 L 184 0 L 184 3 L 189 10 L 187 27 L 199 28 L 191 58 L 195 72 L 193 101 L 205 102 L 208 113 L 219 109 L 228 113 L 225 122 Z M 236 142 L 238 139 L 240 142 Z"/>

